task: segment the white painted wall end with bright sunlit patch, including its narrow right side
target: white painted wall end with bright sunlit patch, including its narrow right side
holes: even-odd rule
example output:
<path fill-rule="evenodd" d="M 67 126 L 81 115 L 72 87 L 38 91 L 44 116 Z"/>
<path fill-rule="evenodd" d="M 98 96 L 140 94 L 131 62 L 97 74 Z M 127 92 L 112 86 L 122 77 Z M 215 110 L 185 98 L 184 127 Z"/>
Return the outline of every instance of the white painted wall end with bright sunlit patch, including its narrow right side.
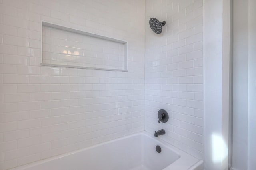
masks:
<path fill-rule="evenodd" d="M 228 169 L 230 1 L 204 1 L 205 170 Z"/>

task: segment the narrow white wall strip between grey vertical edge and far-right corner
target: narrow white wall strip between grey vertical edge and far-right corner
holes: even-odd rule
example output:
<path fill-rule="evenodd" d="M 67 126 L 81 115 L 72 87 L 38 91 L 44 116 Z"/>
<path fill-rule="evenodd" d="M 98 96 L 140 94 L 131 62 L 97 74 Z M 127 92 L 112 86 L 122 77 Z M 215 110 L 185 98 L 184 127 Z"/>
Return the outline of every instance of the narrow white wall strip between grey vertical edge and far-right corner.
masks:
<path fill-rule="evenodd" d="M 248 0 L 234 1 L 233 168 L 247 169 Z"/>

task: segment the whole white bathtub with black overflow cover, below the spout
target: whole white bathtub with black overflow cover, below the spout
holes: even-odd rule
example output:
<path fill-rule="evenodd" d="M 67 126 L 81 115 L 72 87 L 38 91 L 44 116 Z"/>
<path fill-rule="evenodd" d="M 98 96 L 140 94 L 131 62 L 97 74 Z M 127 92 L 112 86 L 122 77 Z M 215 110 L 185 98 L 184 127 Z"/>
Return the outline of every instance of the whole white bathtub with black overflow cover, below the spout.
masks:
<path fill-rule="evenodd" d="M 156 152 L 156 145 L 161 153 Z M 202 164 L 202 160 L 140 132 L 12 170 L 203 170 Z"/>

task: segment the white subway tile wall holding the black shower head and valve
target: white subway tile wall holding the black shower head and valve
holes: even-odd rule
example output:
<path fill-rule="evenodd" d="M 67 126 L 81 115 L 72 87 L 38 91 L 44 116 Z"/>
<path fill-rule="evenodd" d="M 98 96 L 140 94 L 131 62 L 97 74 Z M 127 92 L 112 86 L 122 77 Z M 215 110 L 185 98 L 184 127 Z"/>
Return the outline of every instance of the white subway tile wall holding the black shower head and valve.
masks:
<path fill-rule="evenodd" d="M 146 0 L 145 130 L 203 159 L 203 0 Z M 162 34 L 148 26 L 165 20 Z M 158 123 L 158 110 L 169 113 Z"/>

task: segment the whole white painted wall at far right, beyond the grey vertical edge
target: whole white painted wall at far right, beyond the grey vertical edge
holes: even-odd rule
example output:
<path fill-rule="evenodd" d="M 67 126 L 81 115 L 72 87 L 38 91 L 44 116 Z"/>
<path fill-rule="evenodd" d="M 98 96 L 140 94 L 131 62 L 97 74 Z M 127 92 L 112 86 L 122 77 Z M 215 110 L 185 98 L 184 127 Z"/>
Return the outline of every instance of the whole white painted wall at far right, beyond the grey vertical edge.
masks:
<path fill-rule="evenodd" d="M 256 167 L 256 2 L 234 1 L 233 168 Z"/>

